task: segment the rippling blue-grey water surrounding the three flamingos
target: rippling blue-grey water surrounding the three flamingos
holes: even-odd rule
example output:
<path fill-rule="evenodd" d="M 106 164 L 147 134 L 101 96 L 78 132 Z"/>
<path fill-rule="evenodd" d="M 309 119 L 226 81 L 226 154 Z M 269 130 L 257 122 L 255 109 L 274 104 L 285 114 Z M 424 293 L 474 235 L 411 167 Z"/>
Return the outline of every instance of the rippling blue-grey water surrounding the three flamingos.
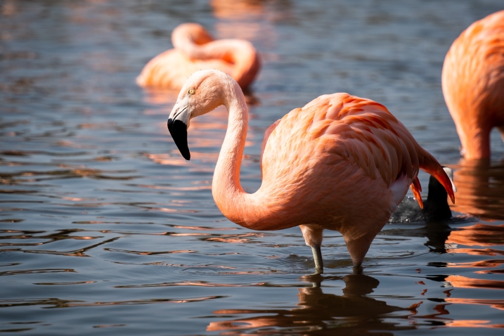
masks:
<path fill-rule="evenodd" d="M 500 335 L 504 145 L 495 132 L 490 163 L 460 160 L 440 76 L 453 39 L 503 8 L 500 0 L 0 1 L 0 332 Z M 385 104 L 453 167 L 455 218 L 385 226 L 362 274 L 329 231 L 323 277 L 310 276 L 298 228 L 249 231 L 225 219 L 210 185 L 226 112 L 191 122 L 186 162 L 166 129 L 176 93 L 134 83 L 188 21 L 250 39 L 261 53 L 247 190 L 260 184 L 264 129 L 346 91 Z"/>

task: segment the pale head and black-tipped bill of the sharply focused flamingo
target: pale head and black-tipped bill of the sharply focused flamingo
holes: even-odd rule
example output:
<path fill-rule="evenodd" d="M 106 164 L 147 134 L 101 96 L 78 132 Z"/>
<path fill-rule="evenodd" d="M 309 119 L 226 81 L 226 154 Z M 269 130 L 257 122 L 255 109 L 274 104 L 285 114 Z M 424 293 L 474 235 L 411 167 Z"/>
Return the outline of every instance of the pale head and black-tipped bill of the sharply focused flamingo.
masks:
<path fill-rule="evenodd" d="M 190 119 L 224 105 L 226 82 L 234 79 L 219 70 L 200 70 L 187 79 L 168 117 L 168 130 L 183 158 L 190 160 L 187 129 Z M 224 84 L 224 85 L 223 85 Z M 236 83 L 236 85 L 238 85 Z"/>

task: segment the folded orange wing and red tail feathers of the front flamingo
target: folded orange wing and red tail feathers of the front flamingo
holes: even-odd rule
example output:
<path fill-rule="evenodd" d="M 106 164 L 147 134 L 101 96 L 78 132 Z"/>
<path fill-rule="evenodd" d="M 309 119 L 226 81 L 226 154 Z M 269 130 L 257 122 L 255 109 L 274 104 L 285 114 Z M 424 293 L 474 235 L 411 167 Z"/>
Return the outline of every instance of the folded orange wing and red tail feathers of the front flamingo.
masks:
<path fill-rule="evenodd" d="M 283 127 L 276 128 L 278 123 Z M 273 143 L 269 143 L 269 137 L 275 138 Z M 296 141 L 290 141 L 292 138 Z M 285 153 L 278 162 L 287 164 L 276 165 L 271 174 L 285 176 L 297 169 L 294 167 L 297 162 L 308 162 L 299 167 L 302 170 L 299 176 L 304 176 L 317 162 L 334 165 L 344 160 L 356 165 L 370 179 L 381 178 L 388 187 L 406 177 L 422 204 L 417 179 L 421 168 L 436 176 L 448 194 L 453 195 L 451 183 L 446 182 L 449 179 L 445 179 L 439 163 L 384 105 L 348 93 L 320 96 L 303 108 L 292 110 L 266 131 L 261 151 L 263 162 L 276 162 L 275 153 Z M 268 169 L 262 170 L 269 174 Z"/>

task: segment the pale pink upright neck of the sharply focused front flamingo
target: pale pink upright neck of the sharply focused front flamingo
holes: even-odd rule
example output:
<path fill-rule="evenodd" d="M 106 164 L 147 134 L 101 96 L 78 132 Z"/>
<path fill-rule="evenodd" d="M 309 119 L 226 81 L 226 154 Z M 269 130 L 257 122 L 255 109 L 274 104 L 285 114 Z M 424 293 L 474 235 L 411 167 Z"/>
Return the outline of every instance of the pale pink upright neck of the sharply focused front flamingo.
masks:
<path fill-rule="evenodd" d="M 221 212 L 231 221 L 247 226 L 247 213 L 253 207 L 252 195 L 240 185 L 240 165 L 247 136 L 248 110 L 245 97 L 236 82 L 228 82 L 224 105 L 228 109 L 228 129 L 219 153 L 212 182 L 212 194 Z M 252 202 L 253 203 L 253 202 Z"/>

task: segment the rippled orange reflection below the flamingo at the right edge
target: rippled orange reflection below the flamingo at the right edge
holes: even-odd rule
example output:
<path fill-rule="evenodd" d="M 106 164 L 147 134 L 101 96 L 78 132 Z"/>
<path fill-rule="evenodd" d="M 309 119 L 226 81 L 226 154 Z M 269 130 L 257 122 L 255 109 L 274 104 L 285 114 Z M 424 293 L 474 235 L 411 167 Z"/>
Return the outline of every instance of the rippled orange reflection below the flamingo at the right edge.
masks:
<path fill-rule="evenodd" d="M 396 228 L 382 231 L 385 235 L 401 235 L 413 237 L 427 237 L 427 245 L 431 252 L 457 254 L 464 256 L 484 256 L 486 259 L 477 261 L 462 262 L 431 262 L 430 266 L 446 267 L 449 270 L 457 269 L 457 273 L 467 271 L 467 275 L 437 275 L 427 276 L 429 280 L 444 283 L 444 286 L 455 289 L 464 289 L 469 293 L 480 292 L 482 290 L 492 290 L 500 297 L 500 292 L 504 290 L 504 281 L 496 278 L 484 278 L 487 275 L 504 274 L 502 264 L 504 264 L 504 224 L 498 219 L 503 219 L 504 209 L 504 164 L 490 164 L 488 161 L 466 161 L 461 160 L 455 167 L 454 183 L 458 190 L 457 200 L 452 209 L 456 212 L 474 214 L 482 219 L 480 223 L 474 224 L 474 219 L 470 217 L 455 217 L 450 221 L 427 221 L 422 228 Z M 473 221 L 473 224 L 460 226 L 466 221 Z M 496 257 L 496 259 L 489 259 Z M 472 276 L 476 273 L 479 276 Z M 439 304 L 435 310 L 439 314 L 429 314 L 427 316 L 415 316 L 415 318 L 437 318 L 443 320 L 443 325 L 453 328 L 504 328 L 501 323 L 491 323 L 489 320 L 455 320 L 448 318 L 449 304 L 465 304 L 487 306 L 489 309 L 504 310 L 504 300 L 499 298 L 465 298 L 465 292 L 447 292 L 447 297 L 441 300 L 444 304 Z M 475 292 L 477 291 L 477 292 Z M 453 293 L 457 297 L 451 297 Z M 463 296 L 463 297 L 460 297 Z"/>

